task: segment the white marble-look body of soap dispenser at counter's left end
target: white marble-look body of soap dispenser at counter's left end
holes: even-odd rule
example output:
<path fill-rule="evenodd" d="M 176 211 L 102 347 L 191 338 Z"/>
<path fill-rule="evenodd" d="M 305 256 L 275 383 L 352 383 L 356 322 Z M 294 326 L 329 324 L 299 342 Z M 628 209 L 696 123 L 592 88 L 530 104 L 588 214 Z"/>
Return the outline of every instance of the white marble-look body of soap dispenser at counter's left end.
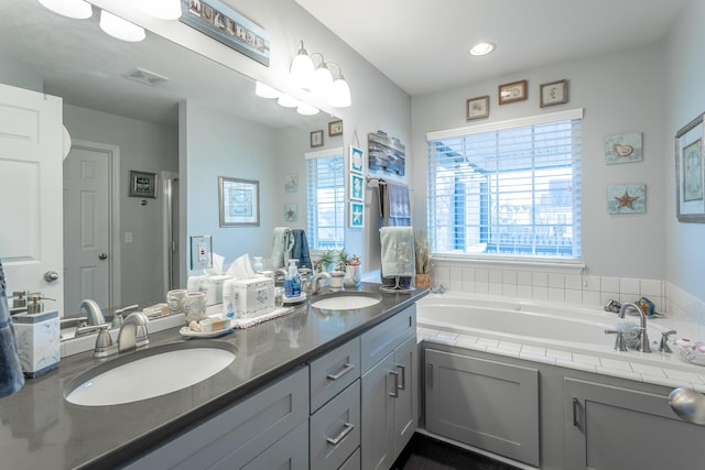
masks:
<path fill-rule="evenodd" d="M 19 314 L 12 320 L 24 375 L 33 379 L 56 369 L 61 358 L 58 310 Z"/>

